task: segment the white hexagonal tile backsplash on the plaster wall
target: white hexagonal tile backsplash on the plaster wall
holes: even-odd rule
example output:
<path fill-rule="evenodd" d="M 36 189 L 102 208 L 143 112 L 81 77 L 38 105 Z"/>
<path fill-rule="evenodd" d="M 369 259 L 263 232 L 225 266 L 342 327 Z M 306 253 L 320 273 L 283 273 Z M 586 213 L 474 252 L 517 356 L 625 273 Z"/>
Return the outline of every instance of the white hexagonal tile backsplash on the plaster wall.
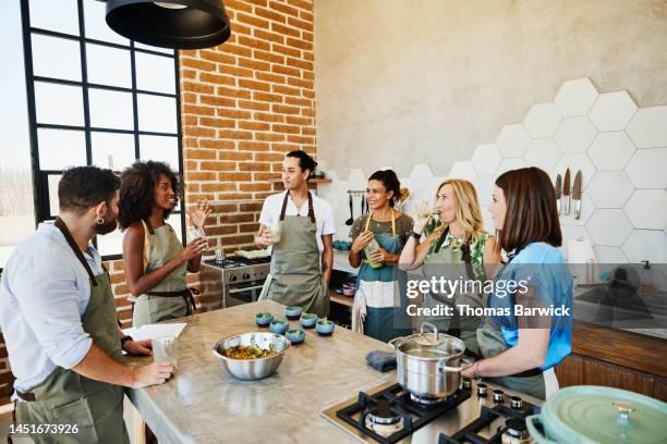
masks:
<path fill-rule="evenodd" d="M 504 172 L 535 165 L 554 180 L 569 168 L 573 184 L 581 170 L 581 217 L 574 219 L 573 211 L 560 217 L 563 254 L 569 239 L 587 237 L 601 263 L 667 261 L 667 104 L 638 108 L 627 91 L 601 94 L 589 78 L 577 78 L 561 85 L 554 102 L 532 106 L 523 123 L 505 125 L 495 140 L 485 141 L 449 172 L 414 165 L 403 186 L 414 199 L 432 198 L 441 178 L 466 178 L 477 188 L 488 223 L 493 183 Z M 324 198 L 336 200 L 337 237 L 349 233 L 342 224 L 349 217 L 344 190 L 363 189 L 373 171 L 356 165 L 347 180 L 329 172 L 333 183 L 320 187 Z"/>

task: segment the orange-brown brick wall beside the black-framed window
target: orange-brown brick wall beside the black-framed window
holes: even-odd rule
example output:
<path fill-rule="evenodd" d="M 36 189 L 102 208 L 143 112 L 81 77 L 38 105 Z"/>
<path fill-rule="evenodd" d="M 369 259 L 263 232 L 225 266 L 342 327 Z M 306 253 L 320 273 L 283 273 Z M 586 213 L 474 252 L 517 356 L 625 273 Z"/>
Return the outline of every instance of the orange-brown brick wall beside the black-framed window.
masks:
<path fill-rule="evenodd" d="M 251 247 L 262 201 L 281 185 L 284 153 L 315 147 L 312 0 L 225 0 L 232 36 L 223 45 L 180 52 L 185 200 L 213 201 L 213 248 Z M 122 261 L 107 264 L 123 326 L 131 307 Z M 204 282 L 201 282 L 204 281 Z M 199 275 L 206 309 L 215 288 Z M 219 293 L 218 293 L 219 295 Z M 8 379 L 0 342 L 0 385 Z"/>

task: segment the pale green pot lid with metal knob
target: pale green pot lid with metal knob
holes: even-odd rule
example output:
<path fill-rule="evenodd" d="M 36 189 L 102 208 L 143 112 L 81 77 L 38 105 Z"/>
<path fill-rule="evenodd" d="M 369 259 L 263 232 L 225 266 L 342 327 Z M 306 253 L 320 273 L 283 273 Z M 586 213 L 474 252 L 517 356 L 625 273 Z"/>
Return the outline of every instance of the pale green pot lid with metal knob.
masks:
<path fill-rule="evenodd" d="M 667 442 L 667 404 L 619 388 L 563 388 L 542 406 L 542 419 L 569 442 Z"/>

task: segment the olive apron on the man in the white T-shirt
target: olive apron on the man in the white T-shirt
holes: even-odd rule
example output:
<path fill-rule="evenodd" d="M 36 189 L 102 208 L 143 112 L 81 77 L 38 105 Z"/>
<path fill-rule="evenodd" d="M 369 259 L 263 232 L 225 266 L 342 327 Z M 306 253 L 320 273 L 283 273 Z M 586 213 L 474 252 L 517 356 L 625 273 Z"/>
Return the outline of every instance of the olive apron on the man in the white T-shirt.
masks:
<path fill-rule="evenodd" d="M 284 215 L 289 192 L 280 210 L 280 242 L 274 244 L 271 269 L 258 300 L 299 306 L 318 317 L 329 314 L 329 289 L 322 275 L 313 196 L 308 192 L 308 217 Z"/>

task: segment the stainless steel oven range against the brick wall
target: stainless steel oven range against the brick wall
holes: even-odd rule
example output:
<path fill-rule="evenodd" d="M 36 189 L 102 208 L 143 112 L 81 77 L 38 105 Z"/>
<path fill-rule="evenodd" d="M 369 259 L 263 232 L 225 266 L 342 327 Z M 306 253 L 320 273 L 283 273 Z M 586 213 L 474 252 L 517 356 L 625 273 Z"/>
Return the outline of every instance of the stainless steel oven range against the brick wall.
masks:
<path fill-rule="evenodd" d="M 220 304 L 217 308 L 256 301 L 269 273 L 270 260 L 270 257 L 246 259 L 235 256 L 221 261 L 204 260 L 202 279 L 215 288 L 220 287 Z"/>

